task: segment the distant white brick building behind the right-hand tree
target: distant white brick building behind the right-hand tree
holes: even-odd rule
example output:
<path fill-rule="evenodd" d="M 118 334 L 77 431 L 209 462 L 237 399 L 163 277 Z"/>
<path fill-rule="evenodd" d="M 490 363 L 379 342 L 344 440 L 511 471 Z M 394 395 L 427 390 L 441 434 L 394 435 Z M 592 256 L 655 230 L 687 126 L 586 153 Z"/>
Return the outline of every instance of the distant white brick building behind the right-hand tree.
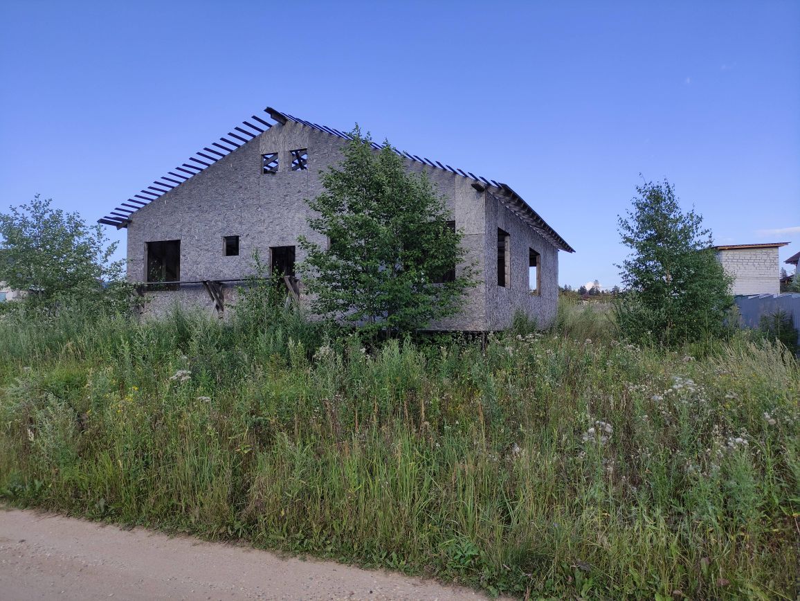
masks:
<path fill-rule="evenodd" d="M 714 246 L 719 262 L 728 274 L 734 276 L 734 296 L 778 294 L 781 291 L 778 248 L 788 243 Z"/>

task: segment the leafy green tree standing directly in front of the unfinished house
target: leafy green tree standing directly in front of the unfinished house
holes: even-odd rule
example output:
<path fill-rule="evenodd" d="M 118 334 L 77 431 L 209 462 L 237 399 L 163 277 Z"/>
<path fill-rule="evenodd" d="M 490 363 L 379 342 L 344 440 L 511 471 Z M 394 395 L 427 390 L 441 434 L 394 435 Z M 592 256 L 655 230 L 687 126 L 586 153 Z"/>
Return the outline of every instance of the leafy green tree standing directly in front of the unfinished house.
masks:
<path fill-rule="evenodd" d="M 339 166 L 322 173 L 325 191 L 308 201 L 311 228 L 330 241 L 300 239 L 313 311 L 386 335 L 454 315 L 475 282 L 446 199 L 388 142 L 376 151 L 358 126 L 351 135 Z"/>

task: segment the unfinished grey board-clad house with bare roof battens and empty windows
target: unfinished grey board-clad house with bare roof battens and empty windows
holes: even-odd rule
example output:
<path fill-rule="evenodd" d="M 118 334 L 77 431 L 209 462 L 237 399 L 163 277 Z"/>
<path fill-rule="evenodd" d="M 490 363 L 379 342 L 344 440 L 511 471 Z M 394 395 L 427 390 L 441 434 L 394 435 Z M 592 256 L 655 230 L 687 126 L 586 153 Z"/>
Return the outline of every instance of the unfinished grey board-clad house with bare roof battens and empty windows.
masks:
<path fill-rule="evenodd" d="M 341 161 L 349 138 L 267 108 L 99 219 L 127 228 L 128 278 L 143 282 L 146 311 L 182 303 L 222 314 L 253 274 L 255 251 L 286 276 L 287 292 L 302 303 L 298 237 L 327 242 L 306 221 L 306 198 L 322 192 L 319 172 Z M 480 285 L 468 291 L 463 311 L 428 327 L 497 331 L 516 311 L 549 324 L 558 300 L 558 251 L 574 252 L 570 245 L 510 186 L 398 154 L 446 195 L 454 226 L 465 234 L 467 261 L 478 265 Z"/>

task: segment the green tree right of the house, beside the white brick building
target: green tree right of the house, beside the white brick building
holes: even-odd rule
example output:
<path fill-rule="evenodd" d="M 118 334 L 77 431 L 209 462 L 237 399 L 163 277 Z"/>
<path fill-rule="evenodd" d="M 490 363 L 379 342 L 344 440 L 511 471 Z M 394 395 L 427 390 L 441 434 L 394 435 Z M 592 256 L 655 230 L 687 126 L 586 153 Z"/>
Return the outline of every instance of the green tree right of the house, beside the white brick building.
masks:
<path fill-rule="evenodd" d="M 618 217 L 622 243 L 633 251 L 618 265 L 630 290 L 618 303 L 622 333 L 666 344 L 721 335 L 733 306 L 732 278 L 702 216 L 683 213 L 666 180 L 636 191 L 633 209 Z"/>

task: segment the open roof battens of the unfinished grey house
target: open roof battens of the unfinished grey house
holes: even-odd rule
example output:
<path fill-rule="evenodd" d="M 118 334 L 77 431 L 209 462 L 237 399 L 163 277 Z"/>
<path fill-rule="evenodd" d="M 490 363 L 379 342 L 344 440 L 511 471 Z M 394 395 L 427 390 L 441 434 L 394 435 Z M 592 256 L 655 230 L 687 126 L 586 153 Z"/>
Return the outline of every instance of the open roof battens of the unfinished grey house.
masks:
<path fill-rule="evenodd" d="M 273 122 L 268 121 L 270 119 Z M 166 175 L 154 180 L 153 184 L 146 186 L 144 189 L 139 190 L 138 193 L 133 194 L 125 202 L 121 202 L 114 210 L 110 211 L 105 217 L 98 219 L 98 223 L 107 226 L 116 226 L 117 228 L 127 227 L 130 222 L 130 217 L 142 206 L 146 206 L 156 198 L 160 198 L 162 194 L 166 194 L 173 188 L 180 186 L 187 179 L 193 175 L 205 170 L 206 167 L 211 166 L 220 158 L 225 158 L 231 152 L 243 146 L 254 138 L 258 138 L 266 130 L 274 125 L 274 122 L 286 123 L 292 121 L 299 123 L 302 126 L 310 127 L 311 129 L 318 130 L 323 134 L 349 140 L 350 135 L 336 130 L 333 127 L 319 125 L 318 123 L 306 121 L 301 118 L 294 117 L 288 113 L 282 113 L 274 108 L 268 106 L 263 111 L 263 114 L 254 114 L 249 120 L 242 122 L 241 126 L 235 126 L 233 130 L 229 131 L 225 136 L 219 138 L 219 142 L 213 142 L 210 146 L 203 147 L 202 150 L 190 156 L 186 162 L 181 166 L 175 167 L 174 170 L 168 171 Z M 222 142 L 222 143 L 221 143 Z M 372 142 L 375 150 L 383 148 L 382 144 Z M 479 190 L 494 189 L 500 194 L 500 200 L 503 204 L 516 214 L 522 221 L 526 222 L 529 226 L 537 230 L 544 238 L 549 240 L 554 246 L 567 252 L 574 252 L 572 246 L 566 243 L 566 240 L 558 235 L 552 227 L 550 227 L 539 214 L 525 202 L 514 190 L 511 190 L 507 184 L 496 182 L 494 179 L 487 179 L 480 175 L 475 175 L 471 171 L 464 171 L 462 169 L 454 169 L 446 163 L 439 161 L 431 161 L 429 158 L 420 157 L 417 154 L 410 154 L 395 150 L 395 152 L 402 158 L 406 158 L 412 162 L 421 163 L 423 166 L 433 167 L 434 169 L 449 171 L 460 177 L 474 180 L 473 187 Z"/>

